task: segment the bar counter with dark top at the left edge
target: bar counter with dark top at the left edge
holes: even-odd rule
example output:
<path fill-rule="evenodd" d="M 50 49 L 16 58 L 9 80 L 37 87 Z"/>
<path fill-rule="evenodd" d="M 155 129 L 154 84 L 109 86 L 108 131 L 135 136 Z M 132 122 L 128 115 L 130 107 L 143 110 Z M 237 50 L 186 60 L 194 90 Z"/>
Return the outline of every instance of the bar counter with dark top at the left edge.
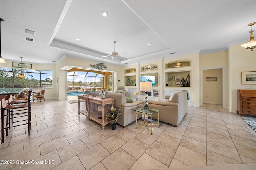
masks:
<path fill-rule="evenodd" d="M 1 114 L 0 114 L 0 137 L 2 136 L 2 108 L 12 101 L 12 95 L 20 94 L 25 88 L 0 88 L 0 102 L 1 102 Z"/>

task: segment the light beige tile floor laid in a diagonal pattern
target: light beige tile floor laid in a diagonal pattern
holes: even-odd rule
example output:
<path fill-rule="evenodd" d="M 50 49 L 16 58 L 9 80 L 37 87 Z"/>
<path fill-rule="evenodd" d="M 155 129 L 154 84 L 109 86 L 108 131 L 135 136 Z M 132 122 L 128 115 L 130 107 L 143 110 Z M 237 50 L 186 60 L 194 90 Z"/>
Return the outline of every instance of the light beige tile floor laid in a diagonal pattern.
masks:
<path fill-rule="evenodd" d="M 81 103 L 84 108 L 84 102 Z M 161 113 L 160 113 L 161 114 Z M 250 115 L 248 115 L 250 117 Z M 143 123 L 143 121 L 139 121 Z M 135 122 L 125 129 L 78 117 L 78 103 L 32 102 L 32 133 L 11 129 L 0 145 L 0 169 L 150 169 L 256 163 L 256 133 L 222 106 L 189 107 L 178 127 L 164 123 L 153 135 Z M 18 161 L 29 161 L 20 162 Z M 37 163 L 37 164 L 36 164 Z M 254 166 L 255 167 L 255 166 Z"/>

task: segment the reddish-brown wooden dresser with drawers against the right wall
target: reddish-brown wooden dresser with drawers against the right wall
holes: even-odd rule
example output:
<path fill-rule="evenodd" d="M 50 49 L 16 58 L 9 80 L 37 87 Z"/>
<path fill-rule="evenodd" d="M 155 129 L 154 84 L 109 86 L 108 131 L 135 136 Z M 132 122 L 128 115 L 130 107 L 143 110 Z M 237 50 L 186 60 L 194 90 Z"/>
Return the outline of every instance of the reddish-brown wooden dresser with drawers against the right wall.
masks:
<path fill-rule="evenodd" d="M 256 115 L 256 90 L 237 90 L 237 113 Z"/>

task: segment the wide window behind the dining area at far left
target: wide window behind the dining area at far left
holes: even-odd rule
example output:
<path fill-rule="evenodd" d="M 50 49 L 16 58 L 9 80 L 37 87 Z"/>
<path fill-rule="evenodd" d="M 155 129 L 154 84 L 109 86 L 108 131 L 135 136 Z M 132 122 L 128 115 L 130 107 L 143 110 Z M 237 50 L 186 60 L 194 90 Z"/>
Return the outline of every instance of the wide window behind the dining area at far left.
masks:
<path fill-rule="evenodd" d="M 0 68 L 1 88 L 52 88 L 52 70 L 24 70 L 25 78 L 18 78 L 21 73 L 16 68 Z"/>

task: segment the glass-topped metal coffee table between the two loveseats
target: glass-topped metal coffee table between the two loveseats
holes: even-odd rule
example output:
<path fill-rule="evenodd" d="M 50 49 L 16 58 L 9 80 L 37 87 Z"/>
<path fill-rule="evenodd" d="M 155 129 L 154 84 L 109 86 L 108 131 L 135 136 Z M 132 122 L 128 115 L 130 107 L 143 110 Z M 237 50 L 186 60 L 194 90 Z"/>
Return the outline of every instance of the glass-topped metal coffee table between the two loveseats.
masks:
<path fill-rule="evenodd" d="M 149 109 L 144 109 L 144 106 L 142 107 L 137 107 L 135 109 L 132 109 L 134 111 L 136 111 L 136 129 L 138 129 L 138 127 L 148 127 L 151 126 L 151 130 L 148 129 L 148 131 L 151 132 L 151 135 L 153 135 L 153 125 L 157 125 L 159 127 L 159 112 L 162 111 L 162 109 L 158 109 L 158 108 L 154 108 L 154 107 L 150 107 Z M 153 123 L 153 115 L 155 113 L 158 113 L 158 123 Z M 138 122 L 137 122 L 137 114 L 141 114 L 144 115 L 144 126 L 138 126 Z M 145 115 L 147 115 L 148 117 L 151 118 L 151 123 L 146 124 L 146 119 L 145 119 Z"/>

